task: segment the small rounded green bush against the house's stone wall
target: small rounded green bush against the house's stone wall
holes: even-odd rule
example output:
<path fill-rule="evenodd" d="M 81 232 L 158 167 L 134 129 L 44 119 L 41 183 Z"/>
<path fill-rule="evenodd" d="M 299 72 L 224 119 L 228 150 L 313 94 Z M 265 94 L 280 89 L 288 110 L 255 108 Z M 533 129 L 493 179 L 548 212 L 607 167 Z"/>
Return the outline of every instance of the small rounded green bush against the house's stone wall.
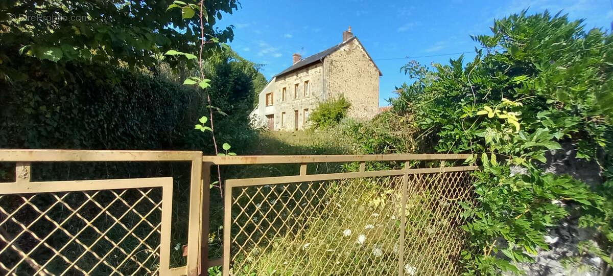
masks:
<path fill-rule="evenodd" d="M 309 121 L 313 122 L 311 128 L 329 128 L 337 125 L 347 116 L 349 107 L 351 103 L 342 95 L 338 99 L 322 102 L 309 116 Z"/>

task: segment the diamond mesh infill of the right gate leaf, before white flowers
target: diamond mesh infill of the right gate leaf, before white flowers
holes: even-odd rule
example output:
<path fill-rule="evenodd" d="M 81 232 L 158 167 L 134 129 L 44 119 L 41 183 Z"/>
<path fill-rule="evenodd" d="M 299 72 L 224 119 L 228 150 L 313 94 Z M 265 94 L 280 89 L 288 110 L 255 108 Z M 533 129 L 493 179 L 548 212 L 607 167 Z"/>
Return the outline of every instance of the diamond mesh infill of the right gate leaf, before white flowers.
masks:
<path fill-rule="evenodd" d="M 232 189 L 231 275 L 457 275 L 470 172 Z"/>

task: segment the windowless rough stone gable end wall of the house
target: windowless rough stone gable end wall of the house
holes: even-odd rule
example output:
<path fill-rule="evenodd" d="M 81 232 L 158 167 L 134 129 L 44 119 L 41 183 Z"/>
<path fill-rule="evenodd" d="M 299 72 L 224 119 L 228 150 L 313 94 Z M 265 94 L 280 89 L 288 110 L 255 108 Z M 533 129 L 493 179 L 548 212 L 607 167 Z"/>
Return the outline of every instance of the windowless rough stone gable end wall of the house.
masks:
<path fill-rule="evenodd" d="M 348 117 L 370 119 L 379 111 L 379 71 L 353 39 L 324 59 L 326 97 L 341 94 L 351 102 Z"/>

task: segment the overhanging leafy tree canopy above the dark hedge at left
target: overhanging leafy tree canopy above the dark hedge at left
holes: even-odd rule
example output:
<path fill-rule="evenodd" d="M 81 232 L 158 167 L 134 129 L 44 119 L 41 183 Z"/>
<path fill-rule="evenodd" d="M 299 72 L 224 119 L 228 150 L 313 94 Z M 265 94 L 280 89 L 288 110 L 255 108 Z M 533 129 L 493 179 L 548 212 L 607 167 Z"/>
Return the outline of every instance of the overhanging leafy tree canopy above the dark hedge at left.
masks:
<path fill-rule="evenodd" d="M 173 4 L 182 9 L 169 9 Z M 199 12 L 189 1 L 70 1 L 8 0 L 0 3 L 2 52 L 55 61 L 86 61 L 135 66 L 153 66 L 156 55 L 168 50 L 196 53 L 200 46 Z M 187 5 L 187 6 L 185 6 Z M 232 27 L 213 28 L 223 12 L 232 13 L 238 1 L 205 1 L 204 31 L 208 39 L 232 40 Z M 207 44 L 207 48 L 217 47 Z M 9 56 L 0 52 L 0 66 Z M 177 66 L 183 55 L 167 56 Z M 0 67 L 2 79 L 18 71 Z"/>

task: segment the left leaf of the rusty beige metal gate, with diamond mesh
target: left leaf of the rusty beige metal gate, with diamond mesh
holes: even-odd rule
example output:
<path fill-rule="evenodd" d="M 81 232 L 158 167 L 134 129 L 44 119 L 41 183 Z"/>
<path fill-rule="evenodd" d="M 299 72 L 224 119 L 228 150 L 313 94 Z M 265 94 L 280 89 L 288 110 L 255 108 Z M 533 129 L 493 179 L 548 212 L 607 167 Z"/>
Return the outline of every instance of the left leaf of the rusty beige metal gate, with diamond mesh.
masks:
<path fill-rule="evenodd" d="M 0 150 L 2 275 L 197 275 L 199 246 L 170 268 L 172 177 L 32 182 L 41 162 L 191 161 L 188 244 L 199 245 L 199 151 Z M 32 164 L 34 163 L 34 164 Z"/>

